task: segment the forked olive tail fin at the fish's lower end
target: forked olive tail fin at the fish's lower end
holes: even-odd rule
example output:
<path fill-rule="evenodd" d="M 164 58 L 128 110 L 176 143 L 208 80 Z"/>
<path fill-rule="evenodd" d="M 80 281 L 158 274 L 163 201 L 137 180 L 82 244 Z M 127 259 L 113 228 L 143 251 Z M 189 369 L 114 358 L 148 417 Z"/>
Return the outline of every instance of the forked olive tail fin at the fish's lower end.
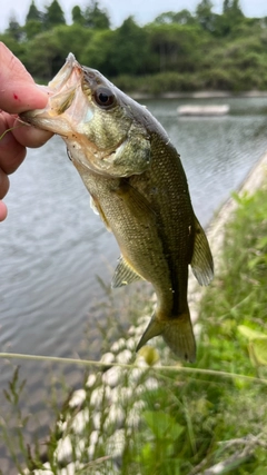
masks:
<path fill-rule="evenodd" d="M 169 348 L 181 359 L 194 363 L 196 359 L 196 342 L 189 311 L 166 320 L 152 315 L 139 344 L 137 352 L 155 336 L 161 335 Z"/>

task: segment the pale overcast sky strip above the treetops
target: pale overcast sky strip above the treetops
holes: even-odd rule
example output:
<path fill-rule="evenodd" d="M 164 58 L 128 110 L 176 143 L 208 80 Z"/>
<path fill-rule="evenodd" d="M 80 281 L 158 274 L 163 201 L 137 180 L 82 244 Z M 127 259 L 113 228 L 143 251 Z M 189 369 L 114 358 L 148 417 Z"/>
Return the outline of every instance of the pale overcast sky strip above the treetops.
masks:
<path fill-rule="evenodd" d="M 50 4 L 52 0 L 36 0 L 36 6 L 42 10 L 43 6 Z M 88 0 L 59 0 L 65 11 L 67 22 L 71 20 L 71 9 L 75 4 L 85 8 Z M 220 13 L 224 0 L 214 0 L 214 11 Z M 8 27 L 10 16 L 14 14 L 20 24 L 23 24 L 29 11 L 31 0 L 2 0 L 0 16 L 0 31 Z M 3 7 L 3 3 L 4 7 Z M 100 7 L 107 8 L 112 27 L 119 27 L 130 14 L 139 24 L 152 21 L 164 11 L 180 11 L 187 8 L 191 12 L 200 0 L 99 0 Z M 246 17 L 267 17 L 267 0 L 240 0 L 243 12 Z"/>

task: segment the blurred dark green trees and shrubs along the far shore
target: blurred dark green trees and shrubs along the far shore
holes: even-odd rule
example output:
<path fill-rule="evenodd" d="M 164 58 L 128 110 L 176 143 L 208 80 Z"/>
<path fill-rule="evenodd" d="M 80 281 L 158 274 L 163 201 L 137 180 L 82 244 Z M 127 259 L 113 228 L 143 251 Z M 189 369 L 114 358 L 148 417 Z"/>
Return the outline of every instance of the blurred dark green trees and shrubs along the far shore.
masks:
<path fill-rule="evenodd" d="M 111 29 L 95 0 L 71 14 L 67 24 L 58 0 L 43 11 L 32 0 L 24 24 L 10 18 L 0 40 L 39 81 L 53 77 L 72 51 L 128 91 L 267 89 L 267 17 L 246 18 L 239 0 L 224 0 L 220 14 L 201 0 L 195 13 L 164 12 L 145 27 L 129 17 Z"/>

